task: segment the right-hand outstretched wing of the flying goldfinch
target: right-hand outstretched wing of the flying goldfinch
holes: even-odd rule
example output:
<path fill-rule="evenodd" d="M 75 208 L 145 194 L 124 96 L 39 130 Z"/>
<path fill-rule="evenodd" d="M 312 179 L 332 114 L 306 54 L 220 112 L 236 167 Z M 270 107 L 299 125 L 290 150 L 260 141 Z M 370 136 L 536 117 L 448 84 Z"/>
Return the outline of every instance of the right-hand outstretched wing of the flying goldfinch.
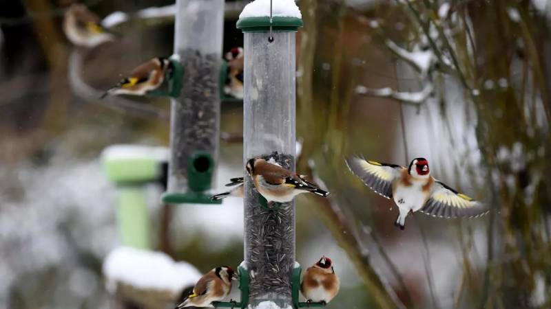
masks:
<path fill-rule="evenodd" d="M 439 218 L 473 218 L 487 214 L 488 207 L 440 181 L 435 181 L 428 200 L 420 211 Z"/>

